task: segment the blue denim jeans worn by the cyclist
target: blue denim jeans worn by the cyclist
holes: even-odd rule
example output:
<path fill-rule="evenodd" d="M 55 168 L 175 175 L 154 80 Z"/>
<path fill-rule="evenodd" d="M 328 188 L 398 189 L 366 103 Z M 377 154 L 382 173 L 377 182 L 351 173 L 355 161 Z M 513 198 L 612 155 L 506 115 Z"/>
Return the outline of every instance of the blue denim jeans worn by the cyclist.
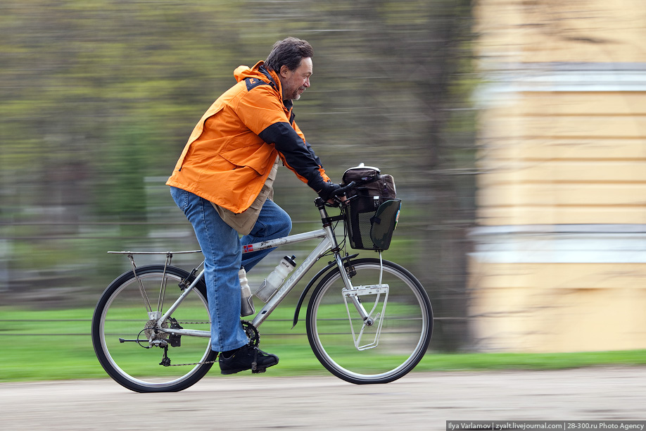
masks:
<path fill-rule="evenodd" d="M 243 266 L 251 270 L 272 249 L 242 254 L 242 246 L 289 235 L 291 218 L 273 201 L 265 201 L 249 235 L 222 221 L 210 201 L 177 187 L 170 195 L 189 219 L 204 255 L 204 278 L 211 316 L 211 349 L 229 351 L 249 342 L 240 325 L 240 280 Z"/>

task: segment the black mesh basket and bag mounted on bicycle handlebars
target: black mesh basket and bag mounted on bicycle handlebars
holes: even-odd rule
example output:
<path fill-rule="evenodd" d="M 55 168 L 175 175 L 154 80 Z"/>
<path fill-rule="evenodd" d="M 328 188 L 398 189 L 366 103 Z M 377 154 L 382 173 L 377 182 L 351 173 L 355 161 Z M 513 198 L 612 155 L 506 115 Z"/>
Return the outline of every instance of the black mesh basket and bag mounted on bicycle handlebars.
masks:
<path fill-rule="evenodd" d="M 358 250 L 387 250 L 399 218 L 401 199 L 397 199 L 395 180 L 379 168 L 363 163 L 343 173 L 341 185 L 355 182 L 348 193 L 346 227 L 350 246 Z"/>

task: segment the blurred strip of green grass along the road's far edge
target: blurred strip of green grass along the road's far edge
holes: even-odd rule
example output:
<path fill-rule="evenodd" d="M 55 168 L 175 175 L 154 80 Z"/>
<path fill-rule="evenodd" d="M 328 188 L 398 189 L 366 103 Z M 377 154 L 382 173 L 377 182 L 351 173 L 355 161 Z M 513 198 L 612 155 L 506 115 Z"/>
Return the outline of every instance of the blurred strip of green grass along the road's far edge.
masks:
<path fill-rule="evenodd" d="M 262 325 L 262 348 L 281 359 L 272 375 L 327 375 L 293 310 L 280 308 Z M 92 310 L 0 308 L 0 382 L 106 378 L 90 337 Z M 432 344 L 431 344 L 432 346 Z M 415 371 L 554 370 L 588 366 L 646 366 L 646 350 L 559 354 L 445 354 L 429 351 Z M 210 375 L 217 375 L 213 370 Z"/>

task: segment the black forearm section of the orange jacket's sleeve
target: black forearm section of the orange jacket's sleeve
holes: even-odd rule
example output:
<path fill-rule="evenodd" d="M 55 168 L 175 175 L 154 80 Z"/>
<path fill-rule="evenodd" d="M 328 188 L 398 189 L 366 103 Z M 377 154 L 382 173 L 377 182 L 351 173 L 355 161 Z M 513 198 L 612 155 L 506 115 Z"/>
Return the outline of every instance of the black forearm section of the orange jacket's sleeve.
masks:
<path fill-rule="evenodd" d="M 267 144 L 274 144 L 283 155 L 287 167 L 308 180 L 308 186 L 317 192 L 324 187 L 325 181 L 319 171 L 320 159 L 314 154 L 310 144 L 303 142 L 289 123 L 274 123 L 258 136 Z"/>

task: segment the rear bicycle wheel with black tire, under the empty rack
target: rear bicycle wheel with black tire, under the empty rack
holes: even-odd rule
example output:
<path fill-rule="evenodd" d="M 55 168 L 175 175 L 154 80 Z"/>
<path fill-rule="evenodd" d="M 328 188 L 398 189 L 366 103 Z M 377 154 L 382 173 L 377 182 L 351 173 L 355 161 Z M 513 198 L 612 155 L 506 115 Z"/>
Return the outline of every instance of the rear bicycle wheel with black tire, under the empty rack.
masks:
<path fill-rule="evenodd" d="M 209 337 L 179 338 L 179 345 L 171 346 L 170 335 L 160 334 L 167 341 L 170 366 L 160 363 L 164 348 L 149 346 L 148 335 L 152 325 L 141 287 L 157 307 L 162 281 L 165 281 L 165 303 L 170 306 L 183 290 L 179 284 L 194 277 L 181 268 L 163 265 L 141 266 L 117 277 L 101 294 L 94 309 L 91 337 L 94 352 L 106 373 L 123 387 L 134 392 L 177 392 L 198 382 L 210 370 L 217 352 L 210 349 Z M 206 287 L 203 280 L 191 290 L 171 318 L 188 329 L 209 330 L 210 318 Z M 174 322 L 167 320 L 170 327 Z M 148 335 L 146 335 L 148 334 Z M 120 341 L 125 339 L 129 341 Z M 136 340 L 136 341 L 133 341 Z M 175 344 L 177 339 L 175 339 Z M 176 364 L 190 364 L 177 365 Z"/>

